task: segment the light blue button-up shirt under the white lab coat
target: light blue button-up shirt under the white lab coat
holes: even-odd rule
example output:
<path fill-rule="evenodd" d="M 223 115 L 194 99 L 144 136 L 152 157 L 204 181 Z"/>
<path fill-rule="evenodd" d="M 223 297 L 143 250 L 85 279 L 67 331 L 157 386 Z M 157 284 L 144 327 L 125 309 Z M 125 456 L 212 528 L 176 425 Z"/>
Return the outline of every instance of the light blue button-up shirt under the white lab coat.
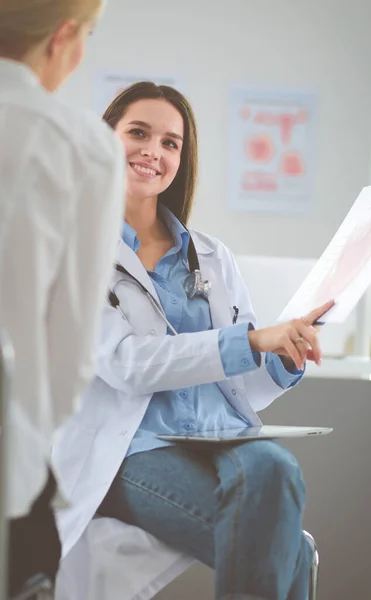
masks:
<path fill-rule="evenodd" d="M 189 274 L 189 233 L 170 211 L 165 208 L 161 210 L 174 238 L 174 246 L 148 275 L 152 279 L 167 319 L 178 333 L 212 329 L 208 301 L 201 297 L 189 299 L 183 287 Z M 134 252 L 138 251 L 140 242 L 134 229 L 127 223 L 123 228 L 123 240 Z M 219 350 L 227 377 L 259 368 L 260 354 L 251 351 L 246 323 L 231 324 L 230 327 L 221 329 Z M 286 371 L 280 358 L 274 354 L 266 355 L 266 367 L 273 380 L 283 389 L 297 383 L 302 376 L 301 371 L 294 374 Z M 216 383 L 156 392 L 127 456 L 170 445 L 169 442 L 156 438 L 159 433 L 187 433 L 248 425 L 249 422 L 234 410 Z"/>

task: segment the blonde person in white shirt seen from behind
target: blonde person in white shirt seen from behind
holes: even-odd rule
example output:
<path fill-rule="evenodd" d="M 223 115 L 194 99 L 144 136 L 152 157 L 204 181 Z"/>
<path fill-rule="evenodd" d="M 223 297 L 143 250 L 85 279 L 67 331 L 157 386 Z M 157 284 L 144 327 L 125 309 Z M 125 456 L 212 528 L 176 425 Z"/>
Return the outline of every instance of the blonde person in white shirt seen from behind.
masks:
<path fill-rule="evenodd" d="M 53 579 L 58 567 L 50 436 L 92 375 L 122 214 L 115 135 L 53 98 L 100 11 L 101 0 L 0 3 L 0 329 L 16 356 L 9 594 L 36 572 Z"/>

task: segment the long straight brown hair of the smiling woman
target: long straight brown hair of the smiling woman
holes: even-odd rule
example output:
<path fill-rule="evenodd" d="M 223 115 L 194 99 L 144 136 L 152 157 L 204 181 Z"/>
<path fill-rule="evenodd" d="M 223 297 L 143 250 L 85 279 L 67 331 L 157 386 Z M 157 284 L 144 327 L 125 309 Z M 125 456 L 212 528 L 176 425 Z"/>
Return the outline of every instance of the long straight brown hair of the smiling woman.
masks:
<path fill-rule="evenodd" d="M 103 119 L 112 129 L 115 129 L 131 104 L 147 99 L 166 100 L 177 109 L 183 118 L 184 140 L 179 169 L 174 181 L 164 192 L 159 194 L 158 199 L 186 225 L 192 210 L 198 170 L 196 121 L 188 100 L 170 86 L 142 81 L 123 90 L 107 108 Z"/>

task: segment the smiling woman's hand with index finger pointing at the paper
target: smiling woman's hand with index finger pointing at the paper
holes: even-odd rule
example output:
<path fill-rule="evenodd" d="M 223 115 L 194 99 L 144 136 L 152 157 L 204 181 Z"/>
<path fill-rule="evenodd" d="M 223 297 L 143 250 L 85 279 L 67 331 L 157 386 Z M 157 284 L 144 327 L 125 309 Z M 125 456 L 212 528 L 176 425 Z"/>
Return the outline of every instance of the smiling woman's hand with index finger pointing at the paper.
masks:
<path fill-rule="evenodd" d="M 322 352 L 318 341 L 318 328 L 313 326 L 313 323 L 333 306 L 334 301 L 330 300 L 300 319 L 249 331 L 251 349 L 285 356 L 291 359 L 299 370 L 304 368 L 306 360 L 320 365 Z"/>

